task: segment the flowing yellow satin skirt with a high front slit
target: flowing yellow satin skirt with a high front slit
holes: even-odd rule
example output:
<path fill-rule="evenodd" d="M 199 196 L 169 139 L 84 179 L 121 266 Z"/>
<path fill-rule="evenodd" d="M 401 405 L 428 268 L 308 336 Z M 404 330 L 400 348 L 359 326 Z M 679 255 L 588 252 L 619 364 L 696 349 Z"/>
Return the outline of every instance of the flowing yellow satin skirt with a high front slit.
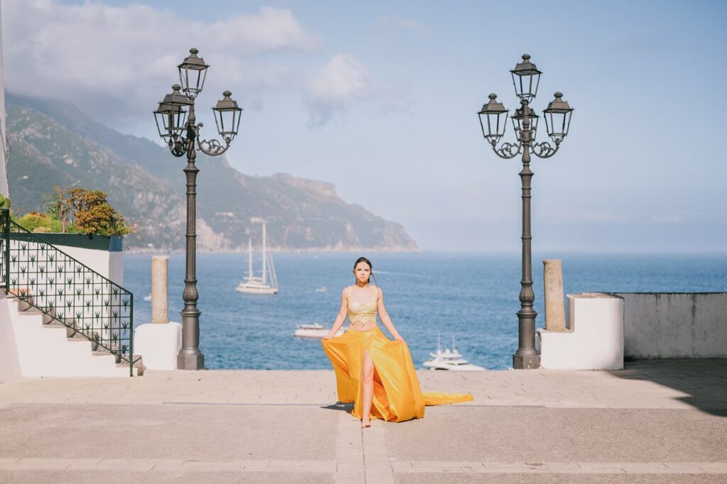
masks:
<path fill-rule="evenodd" d="M 473 400 L 469 393 L 422 393 L 406 343 L 388 339 L 377 327 L 349 329 L 337 338 L 324 339 L 323 349 L 336 374 L 338 400 L 354 402 L 353 416 L 363 414 L 361 368 L 364 352 L 374 362 L 374 399 L 371 419 L 403 422 L 421 419 L 424 407 Z"/>

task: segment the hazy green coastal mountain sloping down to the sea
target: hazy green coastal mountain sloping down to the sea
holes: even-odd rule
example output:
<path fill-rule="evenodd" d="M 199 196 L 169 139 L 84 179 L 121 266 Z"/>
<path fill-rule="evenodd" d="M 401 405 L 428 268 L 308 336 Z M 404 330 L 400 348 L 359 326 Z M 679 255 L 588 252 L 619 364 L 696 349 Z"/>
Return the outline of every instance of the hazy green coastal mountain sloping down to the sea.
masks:
<path fill-rule="evenodd" d="M 43 209 L 55 185 L 103 190 L 137 230 L 133 249 L 179 250 L 185 238 L 186 161 L 149 140 L 121 134 L 63 102 L 7 95 L 12 146 L 10 198 L 18 211 Z M 197 246 L 246 249 L 268 225 L 278 250 L 412 251 L 406 231 L 343 201 L 334 185 L 288 174 L 251 177 L 225 156 L 197 158 Z"/>

